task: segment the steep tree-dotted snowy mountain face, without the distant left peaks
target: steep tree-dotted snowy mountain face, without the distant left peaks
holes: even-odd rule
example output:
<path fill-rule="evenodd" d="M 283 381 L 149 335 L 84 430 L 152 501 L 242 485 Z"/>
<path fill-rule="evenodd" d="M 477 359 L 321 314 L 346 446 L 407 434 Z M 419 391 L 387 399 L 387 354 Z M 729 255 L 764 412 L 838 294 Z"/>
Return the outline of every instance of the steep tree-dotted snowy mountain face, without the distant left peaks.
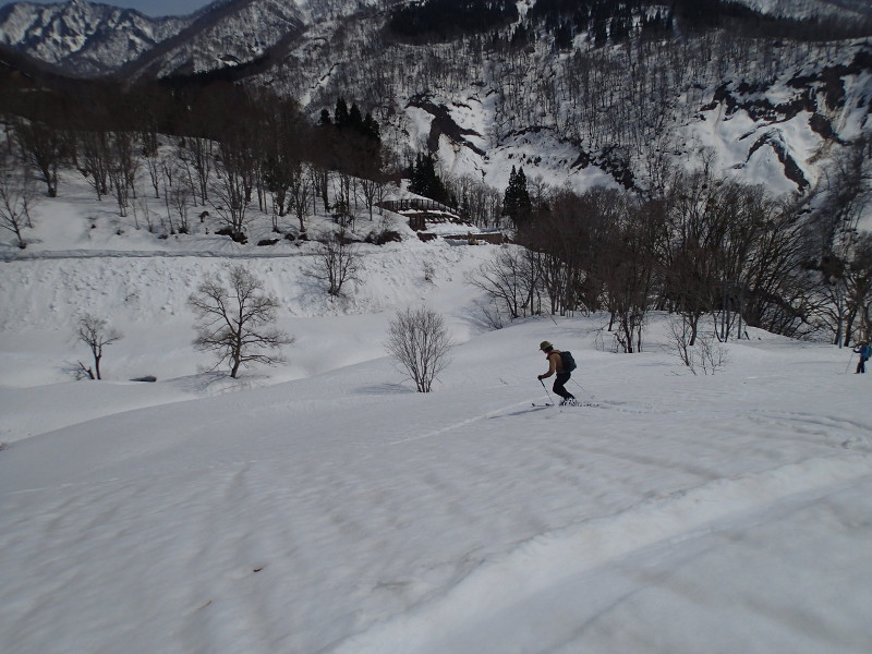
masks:
<path fill-rule="evenodd" d="M 537 23 L 533 9 L 493 46 L 477 35 L 392 38 L 380 15 L 326 22 L 250 82 L 298 98 L 313 117 L 354 98 L 407 159 L 428 148 L 445 174 L 496 189 L 513 166 L 577 189 L 645 189 L 667 164 L 713 150 L 724 174 L 792 193 L 813 187 L 840 147 L 872 128 L 863 39 L 727 29 L 597 47 L 578 28 L 561 47 L 547 21 L 568 17 Z"/>

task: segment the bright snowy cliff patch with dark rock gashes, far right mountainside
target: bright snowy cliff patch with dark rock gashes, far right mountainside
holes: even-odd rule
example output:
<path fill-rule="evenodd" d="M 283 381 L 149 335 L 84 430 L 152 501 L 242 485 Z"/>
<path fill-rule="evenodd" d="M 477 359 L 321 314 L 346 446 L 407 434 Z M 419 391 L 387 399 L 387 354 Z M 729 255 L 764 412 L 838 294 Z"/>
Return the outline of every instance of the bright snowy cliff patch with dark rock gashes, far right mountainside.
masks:
<path fill-rule="evenodd" d="M 872 50 L 845 43 L 767 84 L 742 78 L 715 89 L 688 122 L 685 152 L 715 153 L 725 171 L 770 192 L 806 192 L 845 144 L 869 134 L 870 93 Z"/>

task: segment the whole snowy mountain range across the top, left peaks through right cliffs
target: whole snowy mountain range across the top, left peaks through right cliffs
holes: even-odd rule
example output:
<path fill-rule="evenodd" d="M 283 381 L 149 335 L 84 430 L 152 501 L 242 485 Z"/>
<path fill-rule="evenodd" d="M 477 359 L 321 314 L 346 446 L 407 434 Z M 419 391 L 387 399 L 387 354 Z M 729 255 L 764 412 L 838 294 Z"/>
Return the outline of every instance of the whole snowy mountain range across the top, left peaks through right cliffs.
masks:
<path fill-rule="evenodd" d="M 743 2 L 849 25 L 872 13 L 856 0 Z M 787 37 L 667 25 L 678 4 L 627 3 L 635 13 L 620 19 L 626 39 L 614 16 L 595 24 L 576 5 L 532 0 L 518 3 L 517 16 L 449 37 L 398 36 L 389 4 L 352 0 L 222 0 L 160 21 L 77 0 L 17 3 L 0 12 L 0 35 L 76 74 L 231 71 L 298 100 L 313 119 L 344 97 L 378 121 L 400 164 L 429 149 L 443 174 L 495 189 L 520 166 L 531 180 L 644 191 L 670 162 L 692 164 L 707 149 L 724 174 L 803 192 L 872 129 L 867 40 L 815 41 L 818 23 Z"/>

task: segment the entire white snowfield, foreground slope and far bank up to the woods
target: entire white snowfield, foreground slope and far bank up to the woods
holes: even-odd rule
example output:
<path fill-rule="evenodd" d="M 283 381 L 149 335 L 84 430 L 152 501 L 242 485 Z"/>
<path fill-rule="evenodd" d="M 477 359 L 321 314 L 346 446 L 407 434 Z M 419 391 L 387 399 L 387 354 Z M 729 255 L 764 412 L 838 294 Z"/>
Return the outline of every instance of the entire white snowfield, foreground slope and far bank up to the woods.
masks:
<path fill-rule="evenodd" d="M 445 241 L 373 247 L 334 303 L 306 246 L 159 240 L 80 192 L 0 263 L 2 652 L 867 651 L 849 351 L 750 330 L 693 376 L 663 316 L 634 355 L 604 315 L 488 331 L 463 271 L 496 247 Z M 240 380 L 197 370 L 184 304 L 234 263 L 296 337 Z M 428 395 L 382 346 L 422 303 L 458 343 Z M 84 311 L 125 334 L 102 383 L 65 380 Z M 531 405 L 543 339 L 588 405 Z"/>

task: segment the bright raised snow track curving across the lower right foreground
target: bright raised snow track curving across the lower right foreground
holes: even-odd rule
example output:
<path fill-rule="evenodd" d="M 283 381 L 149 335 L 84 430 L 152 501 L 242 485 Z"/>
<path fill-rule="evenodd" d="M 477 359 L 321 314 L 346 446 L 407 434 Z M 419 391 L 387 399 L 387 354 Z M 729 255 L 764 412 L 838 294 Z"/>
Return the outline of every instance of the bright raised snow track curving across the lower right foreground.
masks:
<path fill-rule="evenodd" d="M 435 654 L 445 651 L 439 643 L 444 644 L 447 635 L 487 630 L 488 622 L 504 613 L 529 615 L 524 607 L 535 607 L 537 595 L 561 584 L 571 586 L 573 576 L 649 546 L 677 544 L 716 531 L 718 523 L 730 517 L 795 496 L 822 495 L 826 489 L 869 477 L 872 458 L 867 456 L 809 459 L 763 473 L 716 480 L 641 502 L 622 513 L 544 533 L 485 561 L 441 595 L 370 627 L 331 652 Z M 530 651 L 516 642 L 500 642 L 498 646 L 502 654 Z"/>

